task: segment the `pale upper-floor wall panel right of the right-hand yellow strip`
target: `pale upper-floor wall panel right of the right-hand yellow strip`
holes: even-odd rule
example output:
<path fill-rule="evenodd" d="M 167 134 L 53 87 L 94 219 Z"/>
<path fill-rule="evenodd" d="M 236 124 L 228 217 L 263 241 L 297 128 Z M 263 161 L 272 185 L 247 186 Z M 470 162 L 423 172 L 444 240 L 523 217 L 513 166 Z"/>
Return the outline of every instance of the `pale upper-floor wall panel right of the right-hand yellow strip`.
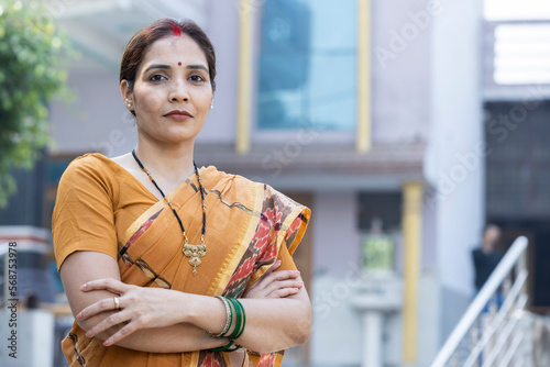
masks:
<path fill-rule="evenodd" d="M 372 2 L 373 142 L 428 140 L 430 16 L 426 0 Z"/>

